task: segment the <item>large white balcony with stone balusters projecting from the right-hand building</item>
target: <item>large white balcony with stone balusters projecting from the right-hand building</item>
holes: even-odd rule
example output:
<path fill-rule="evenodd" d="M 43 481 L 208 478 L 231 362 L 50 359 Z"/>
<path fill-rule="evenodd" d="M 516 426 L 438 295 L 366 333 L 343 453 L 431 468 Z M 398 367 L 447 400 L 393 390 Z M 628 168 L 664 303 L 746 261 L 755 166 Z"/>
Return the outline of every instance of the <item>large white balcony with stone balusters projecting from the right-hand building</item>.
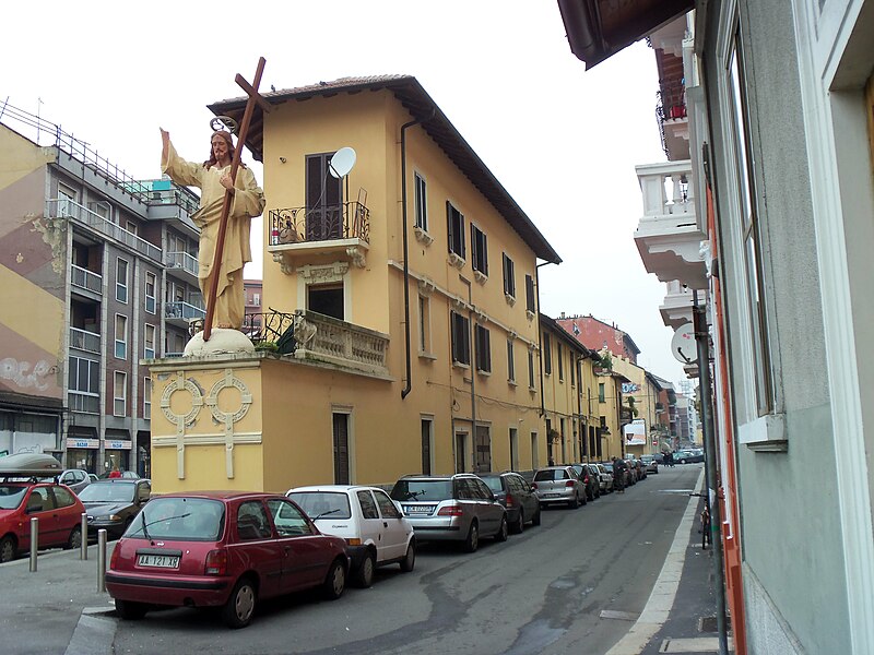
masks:
<path fill-rule="evenodd" d="M 643 194 L 643 217 L 635 242 L 647 272 L 661 282 L 678 281 L 707 288 L 701 241 L 707 235 L 695 213 L 690 162 L 664 162 L 636 167 Z"/>

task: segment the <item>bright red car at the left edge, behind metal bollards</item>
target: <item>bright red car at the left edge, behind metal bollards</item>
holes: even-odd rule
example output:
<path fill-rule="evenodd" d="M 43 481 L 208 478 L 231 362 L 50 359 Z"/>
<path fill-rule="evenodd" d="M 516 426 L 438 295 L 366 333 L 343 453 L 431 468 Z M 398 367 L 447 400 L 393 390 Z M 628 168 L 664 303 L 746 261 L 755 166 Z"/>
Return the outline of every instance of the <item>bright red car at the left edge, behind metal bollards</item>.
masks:
<path fill-rule="evenodd" d="M 9 476 L 11 477 L 11 476 Z M 31 548 L 31 519 L 39 519 L 39 548 L 79 548 L 85 507 L 64 485 L 10 480 L 0 475 L 0 562 Z"/>

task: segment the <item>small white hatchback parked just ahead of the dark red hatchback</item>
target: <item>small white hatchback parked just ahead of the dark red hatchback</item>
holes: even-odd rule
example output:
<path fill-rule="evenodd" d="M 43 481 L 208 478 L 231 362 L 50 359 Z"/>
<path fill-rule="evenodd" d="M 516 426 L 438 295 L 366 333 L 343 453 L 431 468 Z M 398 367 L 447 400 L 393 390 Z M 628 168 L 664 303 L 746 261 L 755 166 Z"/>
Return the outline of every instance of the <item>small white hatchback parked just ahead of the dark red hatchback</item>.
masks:
<path fill-rule="evenodd" d="M 374 582 L 376 567 L 398 563 L 409 573 L 416 561 L 413 526 L 382 489 L 347 485 L 297 487 L 285 496 L 326 535 L 345 539 L 359 586 Z"/>

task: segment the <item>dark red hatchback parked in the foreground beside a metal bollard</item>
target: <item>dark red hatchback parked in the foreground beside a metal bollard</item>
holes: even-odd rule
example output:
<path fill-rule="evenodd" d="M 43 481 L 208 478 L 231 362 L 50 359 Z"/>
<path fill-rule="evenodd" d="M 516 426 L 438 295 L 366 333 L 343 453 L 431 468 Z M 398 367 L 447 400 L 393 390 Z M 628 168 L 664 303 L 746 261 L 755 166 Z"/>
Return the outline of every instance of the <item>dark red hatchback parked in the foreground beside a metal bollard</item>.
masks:
<path fill-rule="evenodd" d="M 152 606 L 220 606 L 229 628 L 244 628 L 261 598 L 309 587 L 339 598 L 349 564 L 345 540 L 284 496 L 180 492 L 143 507 L 116 544 L 106 588 L 126 619 Z"/>

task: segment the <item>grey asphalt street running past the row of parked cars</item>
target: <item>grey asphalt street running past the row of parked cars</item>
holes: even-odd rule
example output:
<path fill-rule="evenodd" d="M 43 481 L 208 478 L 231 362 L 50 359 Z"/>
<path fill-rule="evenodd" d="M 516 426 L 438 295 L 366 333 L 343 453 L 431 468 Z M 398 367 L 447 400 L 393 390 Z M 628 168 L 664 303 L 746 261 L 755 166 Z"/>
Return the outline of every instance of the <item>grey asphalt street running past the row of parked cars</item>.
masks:
<path fill-rule="evenodd" d="M 111 605 L 105 594 L 95 599 L 95 556 L 40 556 L 36 573 L 19 561 L 22 591 L 9 597 L 0 620 L 4 647 L 70 655 L 606 653 L 647 604 L 700 473 L 698 464 L 662 468 L 624 495 L 546 510 L 541 526 L 505 544 L 484 540 L 473 555 L 423 547 L 412 573 L 379 570 L 371 588 L 350 587 L 336 602 L 307 593 L 264 603 L 239 631 L 225 629 L 216 612 L 190 609 L 154 611 L 142 621 L 111 612 L 80 620 L 83 607 Z M 81 576 L 78 585 L 45 583 L 44 569 L 62 558 L 70 575 Z M 73 597 L 80 587 L 86 605 Z M 60 643 L 70 646 L 58 650 Z"/>

